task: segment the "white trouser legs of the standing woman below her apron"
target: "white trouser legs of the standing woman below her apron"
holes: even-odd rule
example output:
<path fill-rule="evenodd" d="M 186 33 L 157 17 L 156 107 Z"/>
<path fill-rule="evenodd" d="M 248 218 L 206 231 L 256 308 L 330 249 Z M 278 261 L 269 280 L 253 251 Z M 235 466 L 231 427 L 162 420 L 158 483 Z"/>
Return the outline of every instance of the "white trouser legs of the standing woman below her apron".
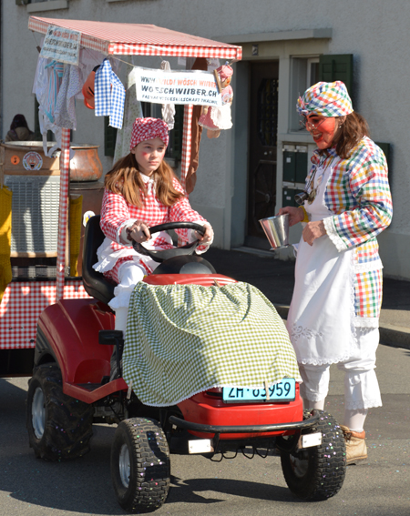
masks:
<path fill-rule="evenodd" d="M 345 410 L 365 410 L 381 407 L 382 398 L 375 375 L 375 351 L 379 330 L 361 329 L 359 345 L 350 359 L 337 364 L 344 371 Z M 330 365 L 299 364 L 302 376 L 301 396 L 304 400 L 322 401 L 329 392 Z"/>

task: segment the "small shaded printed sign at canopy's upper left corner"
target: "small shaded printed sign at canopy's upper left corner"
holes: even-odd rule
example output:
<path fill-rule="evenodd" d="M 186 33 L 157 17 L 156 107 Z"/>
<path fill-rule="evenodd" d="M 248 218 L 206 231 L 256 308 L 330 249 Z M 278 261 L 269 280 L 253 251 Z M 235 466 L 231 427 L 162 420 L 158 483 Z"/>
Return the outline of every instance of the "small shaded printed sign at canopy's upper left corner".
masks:
<path fill-rule="evenodd" d="M 78 66 L 81 33 L 49 25 L 40 56 Z"/>

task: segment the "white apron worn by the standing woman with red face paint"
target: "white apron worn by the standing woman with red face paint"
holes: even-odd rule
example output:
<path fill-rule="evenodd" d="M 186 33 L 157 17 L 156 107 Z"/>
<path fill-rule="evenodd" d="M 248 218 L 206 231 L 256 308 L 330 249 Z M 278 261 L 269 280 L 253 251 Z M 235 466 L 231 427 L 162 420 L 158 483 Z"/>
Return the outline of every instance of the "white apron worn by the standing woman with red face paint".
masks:
<path fill-rule="evenodd" d="M 333 167 L 316 171 L 316 197 L 304 206 L 312 221 L 333 215 L 324 206 L 324 191 L 332 172 Z M 357 349 L 353 253 L 353 249 L 339 252 L 327 235 L 316 238 L 313 246 L 301 238 L 287 320 L 299 363 L 333 364 L 349 359 Z"/>

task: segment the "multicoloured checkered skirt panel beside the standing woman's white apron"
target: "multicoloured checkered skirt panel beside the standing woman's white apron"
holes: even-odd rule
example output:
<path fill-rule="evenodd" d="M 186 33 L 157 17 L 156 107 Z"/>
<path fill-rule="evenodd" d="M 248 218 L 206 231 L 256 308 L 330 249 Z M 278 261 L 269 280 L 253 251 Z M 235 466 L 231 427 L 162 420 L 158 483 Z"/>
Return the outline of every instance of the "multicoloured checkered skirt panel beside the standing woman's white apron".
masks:
<path fill-rule="evenodd" d="M 382 308 L 382 270 L 356 274 L 354 281 L 354 311 L 357 317 L 379 318 Z"/>

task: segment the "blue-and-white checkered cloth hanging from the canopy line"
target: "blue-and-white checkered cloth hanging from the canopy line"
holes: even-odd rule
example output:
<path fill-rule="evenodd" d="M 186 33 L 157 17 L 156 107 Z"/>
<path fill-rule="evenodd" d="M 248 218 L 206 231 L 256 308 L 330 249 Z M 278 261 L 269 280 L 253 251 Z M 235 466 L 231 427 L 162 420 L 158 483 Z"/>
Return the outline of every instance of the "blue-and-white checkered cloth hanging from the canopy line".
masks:
<path fill-rule="evenodd" d="M 125 88 L 104 59 L 96 72 L 94 82 L 96 116 L 109 116 L 109 125 L 122 128 L 124 118 Z"/>

